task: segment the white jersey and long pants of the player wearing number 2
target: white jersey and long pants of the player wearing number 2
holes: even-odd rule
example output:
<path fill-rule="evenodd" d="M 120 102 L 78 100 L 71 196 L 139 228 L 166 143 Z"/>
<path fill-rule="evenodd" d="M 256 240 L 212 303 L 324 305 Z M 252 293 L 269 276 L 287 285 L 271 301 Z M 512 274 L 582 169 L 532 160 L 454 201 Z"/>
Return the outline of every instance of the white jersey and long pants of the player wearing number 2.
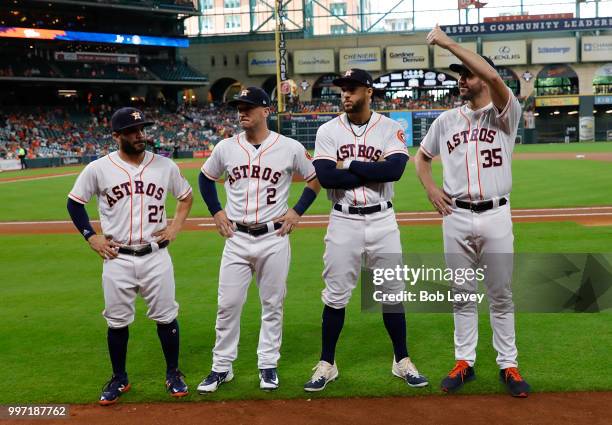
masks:
<path fill-rule="evenodd" d="M 274 368 L 280 358 L 291 248 L 287 236 L 276 234 L 272 220 L 288 210 L 294 173 L 307 181 L 316 177 L 310 156 L 299 142 L 273 131 L 259 148 L 251 145 L 242 132 L 218 143 L 202 172 L 211 180 L 225 178 L 225 212 L 231 221 L 268 229 L 259 236 L 235 231 L 225 242 L 212 370 L 231 370 L 238 356 L 240 316 L 253 273 L 262 307 L 258 367 Z"/>

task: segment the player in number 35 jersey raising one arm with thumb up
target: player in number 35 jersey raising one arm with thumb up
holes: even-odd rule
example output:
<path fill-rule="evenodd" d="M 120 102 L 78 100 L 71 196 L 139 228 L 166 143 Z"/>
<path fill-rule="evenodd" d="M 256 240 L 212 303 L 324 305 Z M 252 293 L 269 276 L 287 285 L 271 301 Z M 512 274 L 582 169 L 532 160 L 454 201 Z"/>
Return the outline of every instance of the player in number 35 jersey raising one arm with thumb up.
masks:
<path fill-rule="evenodd" d="M 514 252 L 511 165 L 521 106 L 489 58 L 459 46 L 437 25 L 427 42 L 461 60 L 462 64 L 453 64 L 450 69 L 460 75 L 460 96 L 466 103 L 433 122 L 417 153 L 417 174 L 432 205 L 443 215 L 448 267 L 485 270 L 500 377 L 513 396 L 527 397 L 529 385 L 517 369 L 510 286 Z M 443 189 L 432 179 L 431 160 L 438 155 L 444 171 Z M 477 290 L 477 281 L 453 284 L 456 294 Z M 455 391 L 475 377 L 477 305 L 455 302 L 453 310 L 456 365 L 442 381 L 445 392 Z"/>

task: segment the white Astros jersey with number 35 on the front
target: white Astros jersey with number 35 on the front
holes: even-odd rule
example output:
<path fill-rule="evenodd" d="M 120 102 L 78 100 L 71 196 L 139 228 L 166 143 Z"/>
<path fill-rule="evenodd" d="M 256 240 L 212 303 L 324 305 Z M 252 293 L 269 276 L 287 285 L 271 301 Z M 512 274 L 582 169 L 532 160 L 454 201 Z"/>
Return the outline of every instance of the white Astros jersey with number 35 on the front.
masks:
<path fill-rule="evenodd" d="M 492 103 L 477 111 L 463 105 L 436 118 L 421 150 L 430 158 L 440 155 L 444 191 L 472 201 L 509 195 L 520 118 L 521 105 L 512 92 L 501 112 Z"/>

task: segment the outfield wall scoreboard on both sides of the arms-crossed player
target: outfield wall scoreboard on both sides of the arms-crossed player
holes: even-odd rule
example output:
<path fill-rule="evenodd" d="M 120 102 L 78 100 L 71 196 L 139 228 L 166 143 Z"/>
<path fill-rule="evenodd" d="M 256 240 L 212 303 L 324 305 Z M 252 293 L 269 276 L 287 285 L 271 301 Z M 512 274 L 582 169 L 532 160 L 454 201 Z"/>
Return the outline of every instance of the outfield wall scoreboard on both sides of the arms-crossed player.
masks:
<path fill-rule="evenodd" d="M 419 146 L 427 134 L 431 123 L 442 113 L 442 109 L 434 110 L 405 110 L 405 111 L 379 111 L 401 124 L 406 133 L 408 146 Z M 307 149 L 314 149 L 317 129 L 326 122 L 334 119 L 339 113 L 295 113 L 281 114 L 280 126 L 278 115 L 270 115 L 269 127 L 279 131 L 282 135 L 296 139 Z"/>

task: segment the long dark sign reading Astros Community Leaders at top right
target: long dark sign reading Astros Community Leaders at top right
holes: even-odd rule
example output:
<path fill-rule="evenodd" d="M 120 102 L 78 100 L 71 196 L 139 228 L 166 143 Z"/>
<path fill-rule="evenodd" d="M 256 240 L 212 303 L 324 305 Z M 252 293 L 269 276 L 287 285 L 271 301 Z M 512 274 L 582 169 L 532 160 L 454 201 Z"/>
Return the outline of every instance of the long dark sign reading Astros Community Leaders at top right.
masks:
<path fill-rule="evenodd" d="M 483 22 L 473 25 L 447 25 L 448 35 L 499 34 L 531 31 L 588 31 L 609 29 L 612 17 L 593 19 L 551 19 L 542 21 Z"/>

